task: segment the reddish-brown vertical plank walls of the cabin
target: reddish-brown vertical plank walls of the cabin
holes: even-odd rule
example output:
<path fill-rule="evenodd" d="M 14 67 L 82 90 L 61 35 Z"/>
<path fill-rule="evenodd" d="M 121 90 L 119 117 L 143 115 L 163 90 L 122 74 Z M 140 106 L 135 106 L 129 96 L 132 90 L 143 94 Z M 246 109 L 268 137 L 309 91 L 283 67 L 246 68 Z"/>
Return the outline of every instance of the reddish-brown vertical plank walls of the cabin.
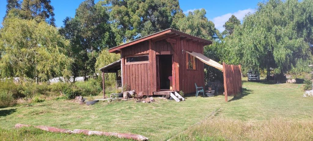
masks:
<path fill-rule="evenodd" d="M 143 95 L 153 95 L 157 91 L 156 84 L 156 55 L 167 51 L 172 57 L 172 77 L 173 90 L 183 91 L 184 93 L 195 92 L 194 83 L 204 87 L 204 63 L 196 59 L 196 70 L 186 69 L 186 53 L 197 52 L 203 54 L 203 44 L 187 39 L 176 38 L 177 43 L 173 44 L 166 40 L 151 42 L 151 40 L 133 44 L 121 49 L 123 85 L 131 90 L 142 91 Z M 149 63 L 125 64 L 125 56 L 149 54 Z"/>

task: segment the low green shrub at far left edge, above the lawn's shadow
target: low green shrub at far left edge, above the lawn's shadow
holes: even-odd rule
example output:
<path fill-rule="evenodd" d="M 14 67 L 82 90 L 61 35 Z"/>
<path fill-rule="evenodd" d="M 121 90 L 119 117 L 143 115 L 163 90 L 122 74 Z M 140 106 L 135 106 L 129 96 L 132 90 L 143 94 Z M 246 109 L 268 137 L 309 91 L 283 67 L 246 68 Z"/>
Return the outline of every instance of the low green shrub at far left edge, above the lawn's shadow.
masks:
<path fill-rule="evenodd" d="M 11 91 L 0 90 L 0 107 L 10 107 L 16 104 Z"/>

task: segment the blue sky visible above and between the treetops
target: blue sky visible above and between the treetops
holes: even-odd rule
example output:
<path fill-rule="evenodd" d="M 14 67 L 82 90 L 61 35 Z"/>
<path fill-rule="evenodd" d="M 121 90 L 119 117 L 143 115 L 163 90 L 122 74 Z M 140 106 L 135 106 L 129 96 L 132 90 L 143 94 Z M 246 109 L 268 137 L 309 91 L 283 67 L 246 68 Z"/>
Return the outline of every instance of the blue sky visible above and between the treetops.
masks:
<path fill-rule="evenodd" d="M 57 27 L 63 25 L 65 17 L 73 17 L 75 15 L 75 9 L 82 1 L 83 0 L 51 0 L 51 5 L 54 7 L 55 23 Z M 98 0 L 95 1 L 97 2 Z M 207 18 L 213 21 L 215 27 L 222 32 L 224 30 L 223 24 L 232 14 L 242 20 L 246 13 L 254 12 L 257 3 L 260 1 L 261 0 L 179 0 L 179 4 L 184 13 L 188 13 L 194 9 L 204 8 L 207 11 Z M 0 0 L 1 23 L 5 15 L 6 5 L 6 0 Z"/>

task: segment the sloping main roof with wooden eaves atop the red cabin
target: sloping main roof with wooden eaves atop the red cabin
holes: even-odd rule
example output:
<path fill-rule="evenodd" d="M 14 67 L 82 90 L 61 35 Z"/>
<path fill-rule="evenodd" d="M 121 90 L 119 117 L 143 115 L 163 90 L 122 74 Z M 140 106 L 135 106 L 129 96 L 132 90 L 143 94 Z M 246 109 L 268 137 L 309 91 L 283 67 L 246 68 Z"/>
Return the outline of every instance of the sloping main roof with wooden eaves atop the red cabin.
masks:
<path fill-rule="evenodd" d="M 155 41 L 158 41 L 158 40 L 161 40 L 161 39 L 173 38 L 173 37 L 174 38 L 183 37 L 183 38 L 187 38 L 187 39 L 192 39 L 194 41 L 199 41 L 203 45 L 212 44 L 212 41 L 209 41 L 207 39 L 202 39 L 200 37 L 193 36 L 193 35 L 190 35 L 190 34 L 187 34 L 187 33 L 184 33 L 184 32 L 181 32 L 181 31 L 178 31 L 178 30 L 175 30 L 175 29 L 172 29 L 172 28 L 169 28 L 169 29 L 165 29 L 165 30 L 162 30 L 160 32 L 157 32 L 157 33 L 154 33 L 154 34 L 150 34 L 148 36 L 145 36 L 145 37 L 142 37 L 142 38 L 130 41 L 128 43 L 121 44 L 121 45 L 118 45 L 116 47 L 110 48 L 109 52 L 119 53 L 122 48 L 125 48 L 125 47 L 133 45 L 133 44 L 137 44 L 137 43 L 140 43 L 142 41 L 149 40 L 149 39 L 152 39 L 152 41 L 155 42 Z"/>

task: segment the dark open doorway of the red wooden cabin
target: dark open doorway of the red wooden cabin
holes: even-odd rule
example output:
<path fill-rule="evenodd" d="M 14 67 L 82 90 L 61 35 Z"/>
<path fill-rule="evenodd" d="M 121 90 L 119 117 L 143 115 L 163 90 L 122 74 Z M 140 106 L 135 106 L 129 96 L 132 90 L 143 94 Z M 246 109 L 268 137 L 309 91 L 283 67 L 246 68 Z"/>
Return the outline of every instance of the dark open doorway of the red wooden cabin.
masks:
<path fill-rule="evenodd" d="M 161 90 L 170 90 L 172 81 L 169 76 L 172 76 L 172 55 L 159 55 L 159 72 Z"/>

